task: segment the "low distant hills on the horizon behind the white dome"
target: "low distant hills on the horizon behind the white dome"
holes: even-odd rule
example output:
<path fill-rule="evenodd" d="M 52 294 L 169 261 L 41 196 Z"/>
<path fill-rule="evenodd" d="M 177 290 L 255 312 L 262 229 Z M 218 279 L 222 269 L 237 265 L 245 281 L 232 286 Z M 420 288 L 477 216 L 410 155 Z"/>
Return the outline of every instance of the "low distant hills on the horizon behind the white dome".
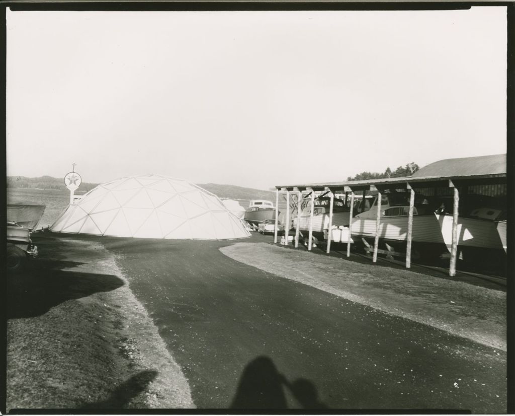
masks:
<path fill-rule="evenodd" d="M 82 182 L 76 193 L 84 193 L 91 191 L 99 184 L 90 184 Z M 220 198 L 230 199 L 268 199 L 274 201 L 275 193 L 273 191 L 263 191 L 261 189 L 244 188 L 234 185 L 219 184 L 197 184 L 205 190 L 214 193 Z M 39 178 L 28 178 L 25 176 L 8 176 L 8 188 L 28 188 L 28 189 L 56 189 L 66 191 L 64 180 L 62 178 L 54 178 L 52 176 L 41 176 Z"/>

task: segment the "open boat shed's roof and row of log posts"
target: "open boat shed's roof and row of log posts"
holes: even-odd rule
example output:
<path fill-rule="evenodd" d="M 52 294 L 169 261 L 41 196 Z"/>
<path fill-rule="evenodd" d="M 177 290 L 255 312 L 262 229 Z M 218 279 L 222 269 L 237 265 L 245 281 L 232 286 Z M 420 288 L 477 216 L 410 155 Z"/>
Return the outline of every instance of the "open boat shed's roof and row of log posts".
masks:
<path fill-rule="evenodd" d="M 405 190 L 409 193 L 408 226 L 406 237 L 406 268 L 411 264 L 411 243 L 413 235 L 413 215 L 415 192 L 423 190 L 426 195 L 445 195 L 449 194 L 453 200 L 452 218 L 452 245 L 449 275 L 456 274 L 456 260 L 458 247 L 458 212 L 460 195 L 474 192 L 488 196 L 507 196 L 507 175 L 506 175 L 506 154 L 478 156 L 457 159 L 444 159 L 428 164 L 424 168 L 415 172 L 412 176 L 370 179 L 358 181 L 339 181 L 317 184 L 294 184 L 276 186 L 276 207 L 279 202 L 279 195 L 283 194 L 286 198 L 286 224 L 290 223 L 291 210 L 300 212 L 302 201 L 309 197 L 311 204 L 311 220 L 308 235 L 308 250 L 312 249 L 312 222 L 315 196 L 330 196 L 329 211 L 329 230 L 332 228 L 333 201 L 334 195 L 345 193 L 345 199 L 350 199 L 349 213 L 349 232 L 347 241 L 347 256 L 350 256 L 353 206 L 356 193 L 361 192 L 364 196 L 366 192 L 377 193 L 377 215 L 375 219 L 375 240 L 372 251 L 372 261 L 376 262 L 379 250 L 379 229 L 381 224 L 381 195 L 387 190 Z M 276 208 L 277 209 L 277 208 Z M 508 209 L 508 207 L 506 207 Z M 277 219 L 276 215 L 276 219 Z M 276 220 L 277 222 L 277 220 Z M 331 251 L 331 233 L 327 241 L 327 253 Z M 284 244 L 288 244 L 288 239 L 284 239 Z M 277 224 L 274 234 L 274 242 L 277 243 Z M 299 221 L 295 230 L 295 247 L 299 244 Z"/>

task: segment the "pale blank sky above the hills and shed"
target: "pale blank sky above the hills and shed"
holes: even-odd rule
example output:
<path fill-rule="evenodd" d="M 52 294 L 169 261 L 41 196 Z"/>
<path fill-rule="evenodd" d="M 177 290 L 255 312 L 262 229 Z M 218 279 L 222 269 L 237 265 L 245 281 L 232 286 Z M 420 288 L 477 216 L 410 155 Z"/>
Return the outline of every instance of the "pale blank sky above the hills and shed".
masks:
<path fill-rule="evenodd" d="M 268 189 L 506 152 L 506 8 L 7 13 L 7 175 Z"/>

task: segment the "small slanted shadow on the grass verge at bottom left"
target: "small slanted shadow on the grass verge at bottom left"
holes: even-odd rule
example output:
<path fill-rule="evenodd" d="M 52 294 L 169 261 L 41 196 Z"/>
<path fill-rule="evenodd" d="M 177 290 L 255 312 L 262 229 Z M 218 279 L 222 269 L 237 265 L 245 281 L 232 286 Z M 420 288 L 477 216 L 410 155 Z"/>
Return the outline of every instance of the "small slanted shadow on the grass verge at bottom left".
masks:
<path fill-rule="evenodd" d="M 142 371 L 116 387 L 107 400 L 88 403 L 82 409 L 124 409 L 134 397 L 146 390 L 157 375 L 156 370 Z"/>

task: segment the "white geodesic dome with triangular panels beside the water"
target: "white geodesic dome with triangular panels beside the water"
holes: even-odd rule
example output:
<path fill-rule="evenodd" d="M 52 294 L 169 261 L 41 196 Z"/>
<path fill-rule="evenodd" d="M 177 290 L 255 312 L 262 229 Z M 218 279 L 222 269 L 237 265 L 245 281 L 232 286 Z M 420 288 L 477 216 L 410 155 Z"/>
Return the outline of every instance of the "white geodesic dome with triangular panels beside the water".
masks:
<path fill-rule="evenodd" d="M 186 180 L 153 174 L 97 186 L 68 205 L 50 230 L 165 239 L 250 237 L 216 195 Z"/>

